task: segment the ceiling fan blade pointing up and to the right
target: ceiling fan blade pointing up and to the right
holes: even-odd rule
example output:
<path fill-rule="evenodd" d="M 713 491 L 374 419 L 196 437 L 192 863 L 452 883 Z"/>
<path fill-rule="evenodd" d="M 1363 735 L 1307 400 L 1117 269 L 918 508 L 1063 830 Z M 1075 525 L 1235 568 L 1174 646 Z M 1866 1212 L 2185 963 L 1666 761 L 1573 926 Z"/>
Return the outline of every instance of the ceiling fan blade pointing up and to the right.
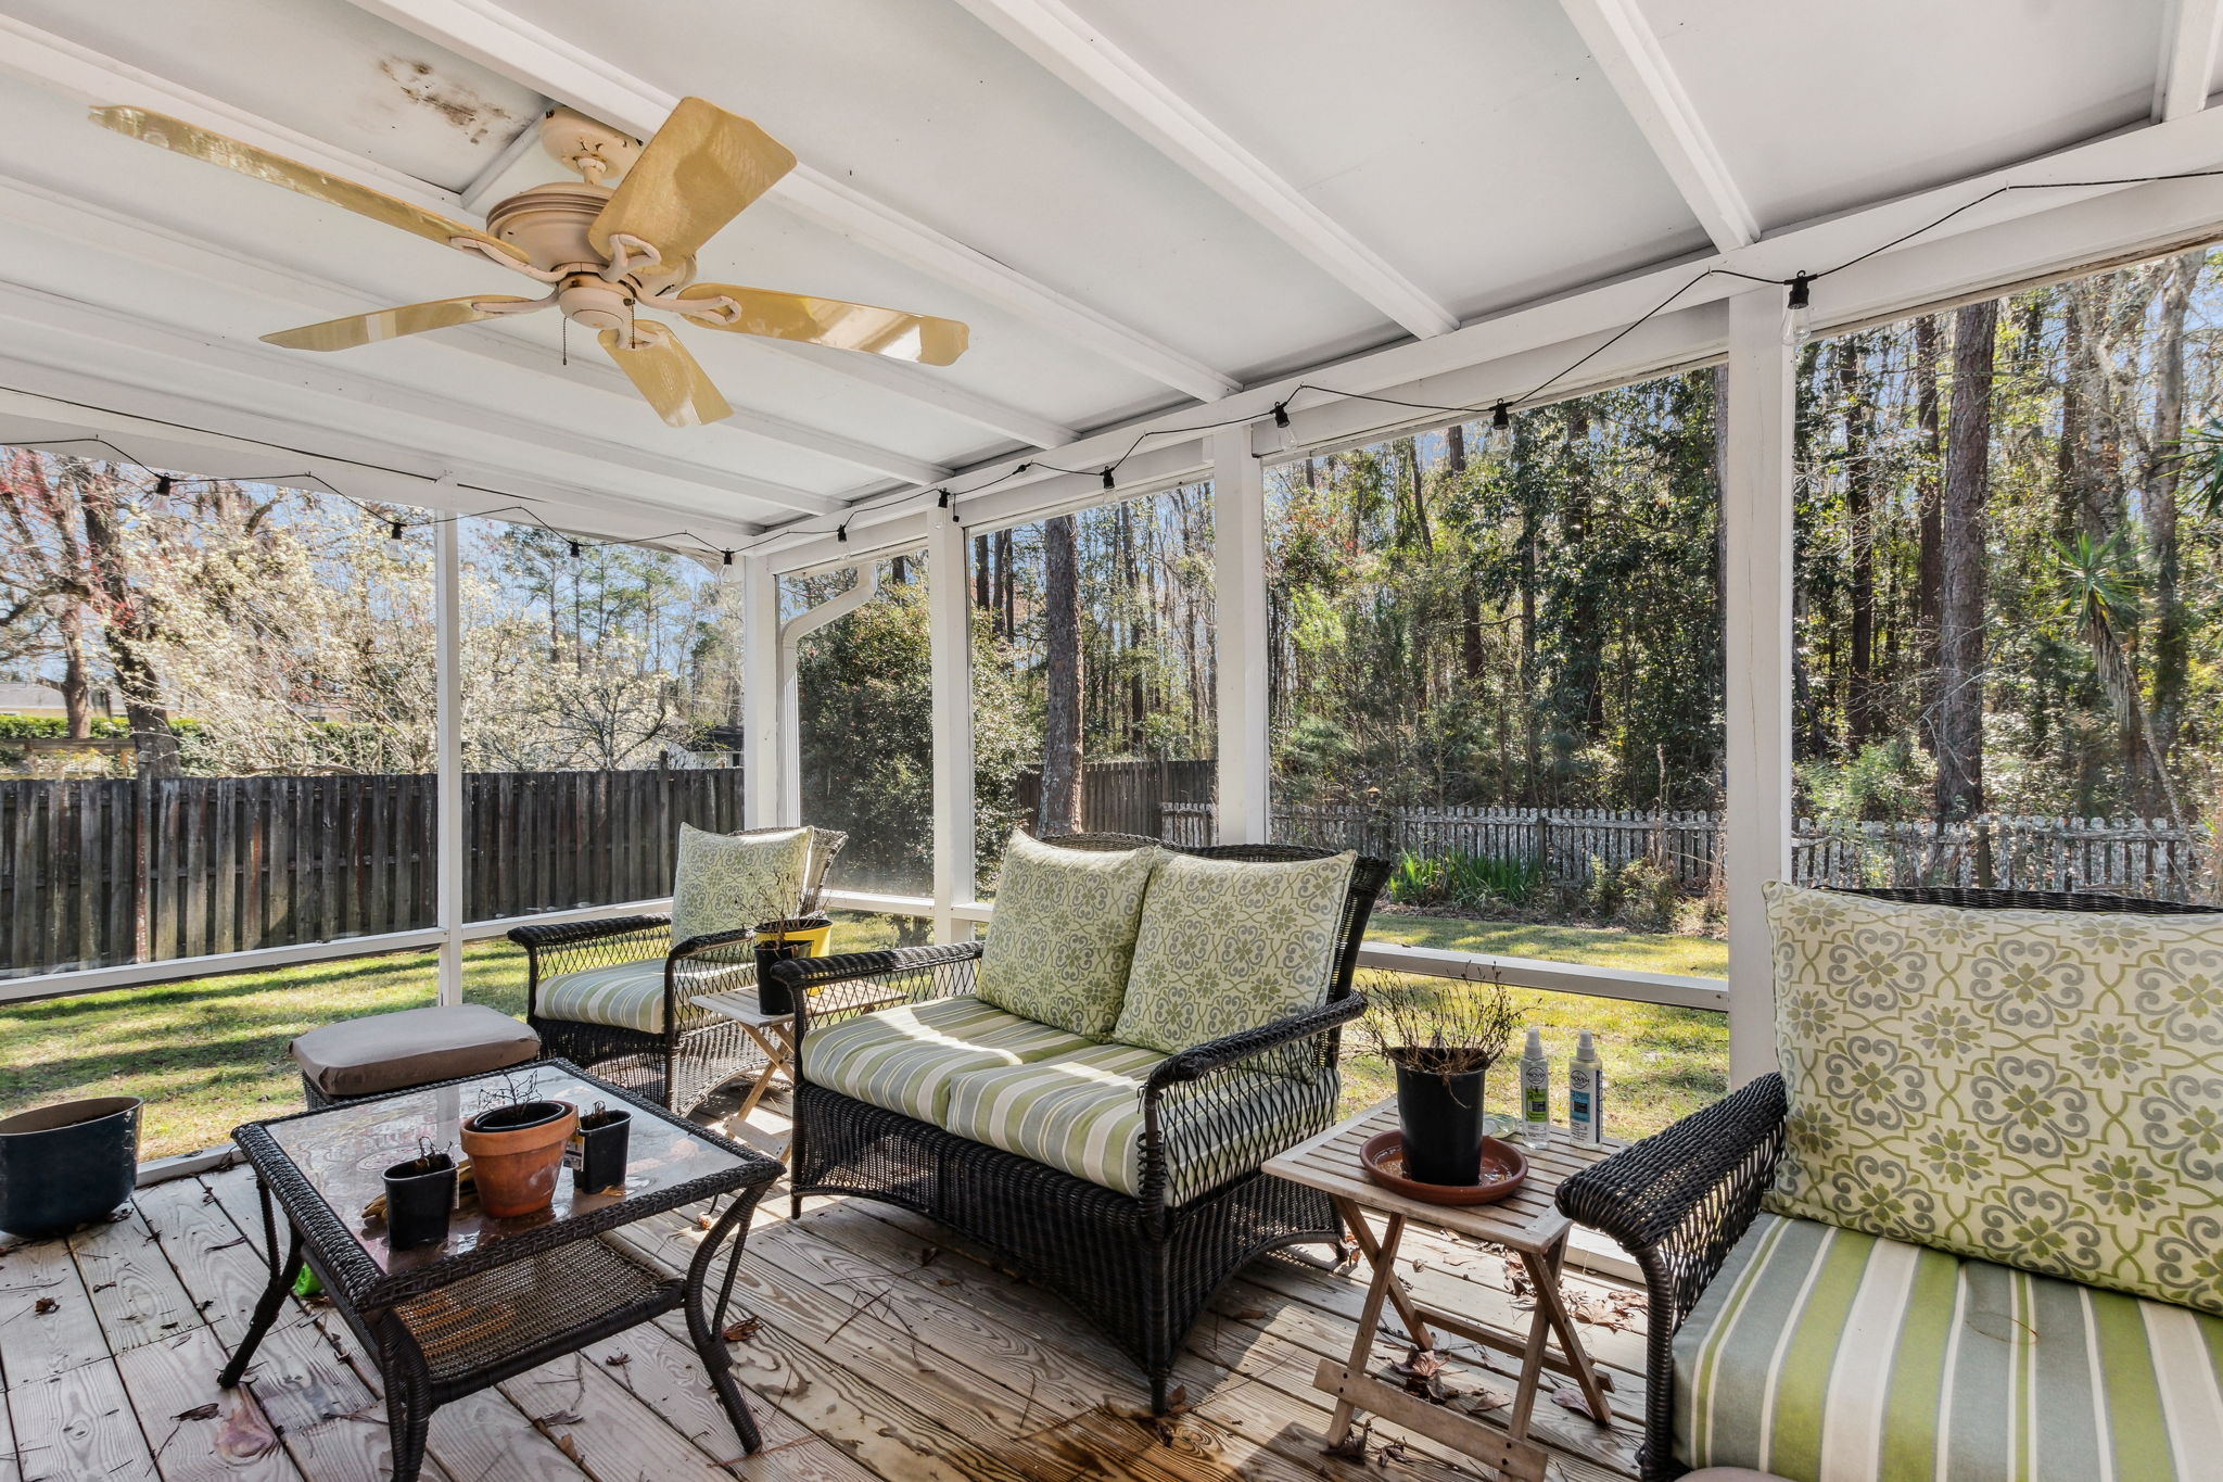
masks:
<path fill-rule="evenodd" d="M 611 233 L 622 231 L 654 242 L 665 262 L 691 258 L 794 167 L 796 156 L 747 118 L 680 98 L 587 238 L 607 253 Z"/>

